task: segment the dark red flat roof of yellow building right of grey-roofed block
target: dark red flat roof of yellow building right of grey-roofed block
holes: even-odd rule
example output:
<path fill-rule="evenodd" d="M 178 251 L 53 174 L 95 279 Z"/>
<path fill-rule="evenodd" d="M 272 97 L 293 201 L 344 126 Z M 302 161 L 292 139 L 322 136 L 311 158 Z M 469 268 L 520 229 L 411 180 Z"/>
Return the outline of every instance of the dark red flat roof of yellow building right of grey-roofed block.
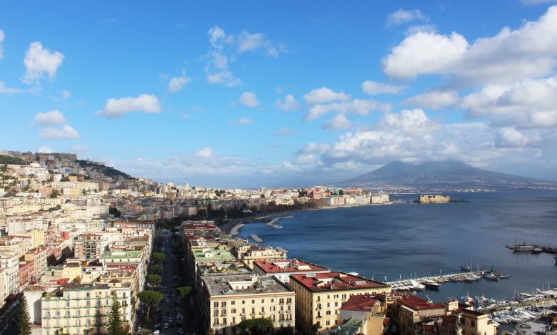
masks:
<path fill-rule="evenodd" d="M 311 292 L 350 290 L 350 289 L 381 289 L 387 284 L 376 282 L 364 277 L 344 272 L 328 272 L 316 274 L 291 274 L 291 280 L 298 282 Z"/>

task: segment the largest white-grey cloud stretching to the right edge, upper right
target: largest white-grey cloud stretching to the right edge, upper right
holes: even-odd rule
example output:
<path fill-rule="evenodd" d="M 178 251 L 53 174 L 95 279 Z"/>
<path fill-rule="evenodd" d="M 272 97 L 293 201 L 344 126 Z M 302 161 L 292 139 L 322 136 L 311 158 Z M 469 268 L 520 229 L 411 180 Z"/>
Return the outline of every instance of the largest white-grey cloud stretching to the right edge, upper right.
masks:
<path fill-rule="evenodd" d="M 463 83 L 508 85 L 553 73 L 556 55 L 557 6 L 551 6 L 538 21 L 526 21 L 515 30 L 503 28 L 470 46 L 455 32 L 414 33 L 383 58 L 383 71 L 394 78 L 441 74 Z"/>

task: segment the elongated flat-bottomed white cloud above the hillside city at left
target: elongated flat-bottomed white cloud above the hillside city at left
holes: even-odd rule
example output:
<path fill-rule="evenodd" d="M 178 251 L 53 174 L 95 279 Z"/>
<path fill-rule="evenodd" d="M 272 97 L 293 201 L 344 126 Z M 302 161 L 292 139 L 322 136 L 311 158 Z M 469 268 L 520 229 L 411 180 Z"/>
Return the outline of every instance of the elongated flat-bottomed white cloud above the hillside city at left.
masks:
<path fill-rule="evenodd" d="M 107 118 L 120 118 L 131 112 L 161 113 L 159 99 L 151 94 L 141 94 L 137 98 L 111 98 L 106 101 L 104 108 L 96 113 L 106 115 Z"/>

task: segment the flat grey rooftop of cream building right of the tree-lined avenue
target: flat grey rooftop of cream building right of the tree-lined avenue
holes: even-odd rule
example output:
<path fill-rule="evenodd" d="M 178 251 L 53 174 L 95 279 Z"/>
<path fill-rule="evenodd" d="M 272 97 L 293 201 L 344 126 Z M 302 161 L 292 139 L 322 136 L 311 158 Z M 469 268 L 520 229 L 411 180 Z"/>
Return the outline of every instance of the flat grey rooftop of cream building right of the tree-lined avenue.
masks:
<path fill-rule="evenodd" d="M 291 291 L 274 277 L 239 275 L 203 279 L 211 297 L 226 297 L 241 294 L 277 294 Z"/>

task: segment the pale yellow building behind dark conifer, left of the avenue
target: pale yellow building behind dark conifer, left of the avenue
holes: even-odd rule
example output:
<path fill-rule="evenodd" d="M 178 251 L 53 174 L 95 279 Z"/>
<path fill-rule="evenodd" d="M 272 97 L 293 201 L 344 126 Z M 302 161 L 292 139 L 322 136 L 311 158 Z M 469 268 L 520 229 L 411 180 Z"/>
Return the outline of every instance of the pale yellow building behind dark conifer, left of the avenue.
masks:
<path fill-rule="evenodd" d="M 94 284 L 64 284 L 41 298 L 42 335 L 55 335 L 63 328 L 69 334 L 104 334 L 112 297 L 121 306 L 124 322 L 131 320 L 131 289 Z"/>

